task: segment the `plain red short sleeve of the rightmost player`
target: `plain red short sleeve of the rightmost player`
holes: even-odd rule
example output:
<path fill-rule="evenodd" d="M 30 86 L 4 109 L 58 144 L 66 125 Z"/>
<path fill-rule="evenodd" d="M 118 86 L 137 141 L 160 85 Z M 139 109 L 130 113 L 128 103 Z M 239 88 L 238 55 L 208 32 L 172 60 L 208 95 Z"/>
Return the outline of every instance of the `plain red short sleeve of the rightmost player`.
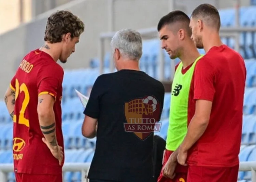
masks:
<path fill-rule="evenodd" d="M 214 69 L 207 60 L 198 60 L 194 73 L 194 99 L 213 101 Z"/>

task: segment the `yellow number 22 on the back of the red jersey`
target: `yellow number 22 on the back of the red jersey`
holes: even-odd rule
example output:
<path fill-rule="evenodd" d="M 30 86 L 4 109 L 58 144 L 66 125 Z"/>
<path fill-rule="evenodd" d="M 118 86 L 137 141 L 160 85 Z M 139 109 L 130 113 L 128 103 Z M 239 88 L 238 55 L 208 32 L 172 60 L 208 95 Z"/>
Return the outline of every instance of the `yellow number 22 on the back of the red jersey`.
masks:
<path fill-rule="evenodd" d="M 30 98 L 28 88 L 27 88 L 26 84 L 24 84 L 24 83 L 19 85 L 19 81 L 16 78 L 15 79 L 15 89 L 16 89 L 15 90 L 15 101 L 18 98 L 19 93 L 24 92 L 24 95 L 25 95 L 24 100 L 22 101 L 22 107 L 19 111 L 18 124 L 22 124 L 22 125 L 25 125 L 25 126 L 29 127 L 29 121 L 24 116 L 26 108 L 27 108 L 28 103 L 29 103 L 29 98 Z M 16 123 L 16 121 L 17 121 L 16 115 L 13 115 L 13 122 Z"/>

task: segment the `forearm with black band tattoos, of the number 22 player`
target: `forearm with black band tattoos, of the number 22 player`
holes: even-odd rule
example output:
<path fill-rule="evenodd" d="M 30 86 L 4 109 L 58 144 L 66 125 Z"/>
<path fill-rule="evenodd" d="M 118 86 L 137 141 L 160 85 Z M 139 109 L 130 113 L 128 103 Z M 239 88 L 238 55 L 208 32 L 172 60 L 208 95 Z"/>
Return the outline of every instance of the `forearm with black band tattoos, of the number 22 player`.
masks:
<path fill-rule="evenodd" d="M 50 144 L 52 149 L 58 145 L 55 132 L 55 116 L 54 112 L 49 111 L 45 115 L 39 115 L 39 124 L 41 131 L 46 141 Z"/>

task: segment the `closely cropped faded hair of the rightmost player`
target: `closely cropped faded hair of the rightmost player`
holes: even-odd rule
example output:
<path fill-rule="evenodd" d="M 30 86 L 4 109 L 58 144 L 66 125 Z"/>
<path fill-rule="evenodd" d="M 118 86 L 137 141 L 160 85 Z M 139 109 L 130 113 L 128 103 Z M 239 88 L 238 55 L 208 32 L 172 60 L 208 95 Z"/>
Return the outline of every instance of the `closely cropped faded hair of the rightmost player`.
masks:
<path fill-rule="evenodd" d="M 221 17 L 216 7 L 211 4 L 201 4 L 191 14 L 192 18 L 203 18 L 205 23 L 209 26 L 216 27 L 217 30 L 221 28 Z"/>

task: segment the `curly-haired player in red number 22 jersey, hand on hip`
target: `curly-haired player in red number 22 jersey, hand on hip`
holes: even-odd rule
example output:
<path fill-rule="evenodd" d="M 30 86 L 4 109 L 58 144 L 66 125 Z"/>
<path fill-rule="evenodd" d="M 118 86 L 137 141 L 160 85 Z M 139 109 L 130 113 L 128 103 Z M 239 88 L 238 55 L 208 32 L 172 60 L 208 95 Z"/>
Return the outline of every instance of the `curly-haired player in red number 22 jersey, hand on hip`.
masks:
<path fill-rule="evenodd" d="M 63 68 L 75 52 L 84 23 L 69 11 L 48 20 L 45 44 L 21 61 L 5 94 L 13 119 L 13 159 L 17 182 L 62 182 L 61 130 Z"/>

